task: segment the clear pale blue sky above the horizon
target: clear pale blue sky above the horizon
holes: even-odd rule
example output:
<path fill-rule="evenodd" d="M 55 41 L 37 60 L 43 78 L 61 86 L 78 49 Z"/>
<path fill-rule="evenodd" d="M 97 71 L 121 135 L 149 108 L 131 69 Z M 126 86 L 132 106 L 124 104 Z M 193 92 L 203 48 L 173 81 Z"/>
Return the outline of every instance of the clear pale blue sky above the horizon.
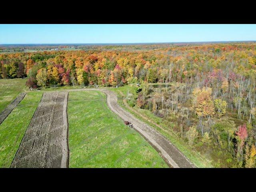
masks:
<path fill-rule="evenodd" d="M 0 44 L 256 40 L 256 24 L 0 24 Z"/>

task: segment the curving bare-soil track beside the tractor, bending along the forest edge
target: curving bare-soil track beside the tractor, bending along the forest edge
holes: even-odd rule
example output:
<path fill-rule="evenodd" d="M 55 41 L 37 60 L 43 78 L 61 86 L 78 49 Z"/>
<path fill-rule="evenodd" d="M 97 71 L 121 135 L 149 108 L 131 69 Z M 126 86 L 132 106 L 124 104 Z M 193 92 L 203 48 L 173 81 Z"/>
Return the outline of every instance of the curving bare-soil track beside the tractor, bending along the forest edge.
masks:
<path fill-rule="evenodd" d="M 144 122 L 138 120 L 132 114 L 122 109 L 117 102 L 116 94 L 106 89 L 77 89 L 78 90 L 98 90 L 107 95 L 108 107 L 116 113 L 122 120 L 130 121 L 134 129 L 139 132 L 162 156 L 165 162 L 172 168 L 196 168 L 180 150 L 178 150 L 166 137 L 156 131 L 154 128 L 148 126 Z"/>

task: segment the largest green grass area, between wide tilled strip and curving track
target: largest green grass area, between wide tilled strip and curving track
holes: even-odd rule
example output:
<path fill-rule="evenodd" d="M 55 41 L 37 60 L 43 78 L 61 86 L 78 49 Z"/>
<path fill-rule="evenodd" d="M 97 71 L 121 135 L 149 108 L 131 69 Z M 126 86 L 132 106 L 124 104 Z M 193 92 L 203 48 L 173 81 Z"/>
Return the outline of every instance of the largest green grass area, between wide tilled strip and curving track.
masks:
<path fill-rule="evenodd" d="M 140 134 L 124 125 L 99 91 L 69 92 L 71 168 L 167 168 Z"/>

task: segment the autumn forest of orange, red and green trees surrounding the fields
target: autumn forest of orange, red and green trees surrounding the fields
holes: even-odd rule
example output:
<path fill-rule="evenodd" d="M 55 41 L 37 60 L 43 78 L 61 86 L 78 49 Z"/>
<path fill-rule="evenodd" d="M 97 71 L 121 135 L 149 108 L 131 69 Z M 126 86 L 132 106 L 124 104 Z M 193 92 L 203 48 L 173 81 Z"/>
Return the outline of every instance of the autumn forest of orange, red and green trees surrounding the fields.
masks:
<path fill-rule="evenodd" d="M 140 84 L 130 107 L 172 122 L 215 167 L 256 166 L 255 42 L 28 49 L 38 51 L 1 47 L 0 78 L 27 78 L 28 88 Z"/>

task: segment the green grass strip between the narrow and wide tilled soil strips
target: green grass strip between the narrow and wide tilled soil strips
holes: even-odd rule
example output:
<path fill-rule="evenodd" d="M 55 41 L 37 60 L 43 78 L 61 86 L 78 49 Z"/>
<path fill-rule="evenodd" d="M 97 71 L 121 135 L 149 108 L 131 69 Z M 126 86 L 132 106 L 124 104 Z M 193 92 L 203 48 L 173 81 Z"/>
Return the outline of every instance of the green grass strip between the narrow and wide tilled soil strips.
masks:
<path fill-rule="evenodd" d="M 0 167 L 10 167 L 20 142 L 42 98 L 42 92 L 30 92 L 0 124 Z"/>

